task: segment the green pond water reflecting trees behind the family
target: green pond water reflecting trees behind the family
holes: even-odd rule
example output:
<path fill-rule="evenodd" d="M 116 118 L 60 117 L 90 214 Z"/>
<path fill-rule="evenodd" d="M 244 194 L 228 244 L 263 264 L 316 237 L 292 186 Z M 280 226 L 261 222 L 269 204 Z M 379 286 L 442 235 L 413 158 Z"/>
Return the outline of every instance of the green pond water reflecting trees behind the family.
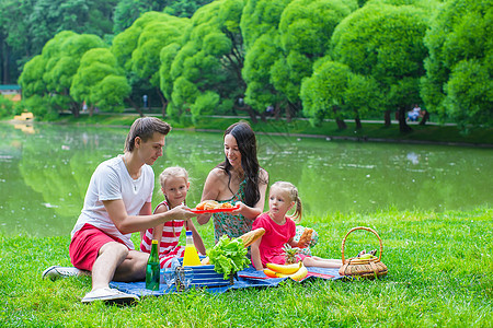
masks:
<path fill-rule="evenodd" d="M 68 235 L 100 162 L 123 152 L 127 128 L 34 127 L 0 124 L 0 233 Z M 307 213 L 398 210 L 470 210 L 491 204 L 493 151 L 324 139 L 257 137 L 259 159 L 271 183 L 288 180 Z M 199 200 L 208 172 L 223 159 L 222 134 L 173 130 L 158 176 L 185 167 L 187 203 Z M 156 184 L 153 204 L 162 195 Z"/>

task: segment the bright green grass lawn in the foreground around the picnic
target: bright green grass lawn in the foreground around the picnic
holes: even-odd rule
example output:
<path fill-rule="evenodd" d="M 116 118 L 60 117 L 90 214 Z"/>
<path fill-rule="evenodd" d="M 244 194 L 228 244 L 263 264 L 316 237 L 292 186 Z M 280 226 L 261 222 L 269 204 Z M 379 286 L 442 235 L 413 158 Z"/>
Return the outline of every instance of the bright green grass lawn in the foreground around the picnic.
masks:
<path fill-rule="evenodd" d="M 320 235 L 313 253 L 340 258 L 354 226 L 375 229 L 389 274 L 381 280 L 286 282 L 211 295 L 203 290 L 146 297 L 135 306 L 90 305 L 89 278 L 43 281 L 51 265 L 70 265 L 69 236 L 0 236 L 2 327 L 492 327 L 493 211 L 398 212 L 308 216 Z M 211 224 L 200 226 L 206 246 Z M 137 236 L 134 235 L 134 241 Z M 356 231 L 345 255 L 378 247 Z"/>

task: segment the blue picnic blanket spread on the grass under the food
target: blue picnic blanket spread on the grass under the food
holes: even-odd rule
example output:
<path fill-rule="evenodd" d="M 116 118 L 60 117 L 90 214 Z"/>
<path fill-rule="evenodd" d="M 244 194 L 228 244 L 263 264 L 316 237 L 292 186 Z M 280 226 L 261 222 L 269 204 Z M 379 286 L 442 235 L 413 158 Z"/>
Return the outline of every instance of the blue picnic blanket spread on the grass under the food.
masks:
<path fill-rule="evenodd" d="M 337 280 L 343 277 L 339 274 L 339 269 L 325 269 L 318 267 L 307 267 L 308 276 L 300 281 L 303 283 L 306 281 L 316 279 L 325 280 Z M 239 290 L 246 288 L 273 288 L 277 286 L 283 281 L 290 278 L 268 278 L 263 271 L 256 271 L 252 266 L 238 272 L 238 278 L 234 279 L 234 284 L 207 288 L 206 290 L 210 293 L 220 294 L 229 290 Z M 134 294 L 137 296 L 160 296 L 164 294 L 179 293 L 175 286 L 168 288 L 165 284 L 161 284 L 159 291 L 150 291 L 146 289 L 146 282 L 116 282 L 112 281 L 110 283 L 111 288 L 117 289 L 122 292 Z"/>

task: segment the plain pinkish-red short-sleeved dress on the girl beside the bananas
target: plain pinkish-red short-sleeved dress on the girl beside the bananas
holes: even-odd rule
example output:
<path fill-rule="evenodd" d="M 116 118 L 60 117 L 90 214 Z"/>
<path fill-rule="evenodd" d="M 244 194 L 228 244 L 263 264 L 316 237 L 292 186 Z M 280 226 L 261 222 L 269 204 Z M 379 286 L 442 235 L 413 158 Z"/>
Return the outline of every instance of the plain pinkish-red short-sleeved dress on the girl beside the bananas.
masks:
<path fill-rule="evenodd" d="M 259 227 L 265 229 L 265 234 L 262 236 L 259 245 L 262 266 L 265 267 L 266 263 L 286 263 L 283 247 L 296 235 L 295 221 L 286 216 L 284 224 L 277 224 L 267 213 L 263 213 L 255 219 L 252 230 Z M 306 257 L 306 255 L 298 254 L 296 259 L 302 260 Z"/>

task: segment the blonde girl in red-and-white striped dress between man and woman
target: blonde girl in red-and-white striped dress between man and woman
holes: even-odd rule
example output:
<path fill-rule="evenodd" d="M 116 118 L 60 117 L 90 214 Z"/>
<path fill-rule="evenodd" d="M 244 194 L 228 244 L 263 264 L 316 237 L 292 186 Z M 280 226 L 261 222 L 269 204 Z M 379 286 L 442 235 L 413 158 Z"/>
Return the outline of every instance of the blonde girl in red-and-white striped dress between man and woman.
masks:
<path fill-rule="evenodd" d="M 164 200 L 156 207 L 154 213 L 169 211 L 185 202 L 190 181 L 188 174 L 183 167 L 173 166 L 165 168 L 159 176 L 159 181 Z M 171 268 L 171 260 L 175 257 L 183 257 L 185 253 L 185 246 L 177 245 L 184 225 L 192 231 L 195 248 L 197 248 L 198 253 L 205 255 L 204 242 L 192 223 L 192 220 L 173 220 L 148 229 L 144 232 L 140 250 L 150 253 L 152 239 L 160 241 L 159 260 L 161 268 Z"/>

